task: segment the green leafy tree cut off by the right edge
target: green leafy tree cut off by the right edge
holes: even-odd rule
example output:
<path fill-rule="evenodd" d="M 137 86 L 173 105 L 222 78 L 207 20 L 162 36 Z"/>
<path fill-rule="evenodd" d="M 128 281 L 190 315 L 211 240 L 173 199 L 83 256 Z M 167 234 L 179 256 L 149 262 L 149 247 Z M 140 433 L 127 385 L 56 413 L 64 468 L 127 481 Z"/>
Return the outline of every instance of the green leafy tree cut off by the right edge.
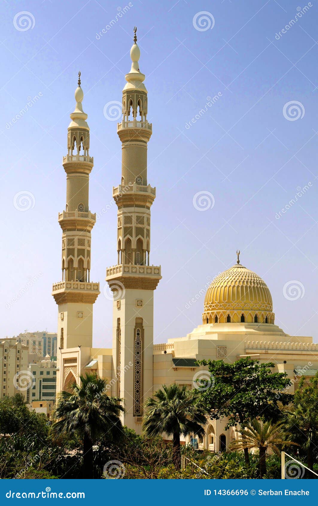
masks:
<path fill-rule="evenodd" d="M 304 383 L 302 377 L 294 394 L 293 407 L 287 411 L 285 427 L 305 450 L 307 467 L 312 470 L 318 447 L 318 373 L 310 378 L 309 385 Z"/>

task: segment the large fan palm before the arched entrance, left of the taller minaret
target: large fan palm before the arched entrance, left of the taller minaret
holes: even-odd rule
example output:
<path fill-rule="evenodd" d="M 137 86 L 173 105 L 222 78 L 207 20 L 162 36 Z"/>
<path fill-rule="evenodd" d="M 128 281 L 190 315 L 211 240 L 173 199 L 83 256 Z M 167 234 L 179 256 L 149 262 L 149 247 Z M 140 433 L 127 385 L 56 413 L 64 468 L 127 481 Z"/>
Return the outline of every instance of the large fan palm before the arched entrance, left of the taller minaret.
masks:
<path fill-rule="evenodd" d="M 115 435 L 122 425 L 122 399 L 107 395 L 107 379 L 94 373 L 80 375 L 80 385 L 73 382 L 72 392 L 58 396 L 55 417 L 51 427 L 55 439 L 62 435 L 78 434 L 83 438 L 83 478 L 93 477 L 93 444 L 103 434 Z"/>

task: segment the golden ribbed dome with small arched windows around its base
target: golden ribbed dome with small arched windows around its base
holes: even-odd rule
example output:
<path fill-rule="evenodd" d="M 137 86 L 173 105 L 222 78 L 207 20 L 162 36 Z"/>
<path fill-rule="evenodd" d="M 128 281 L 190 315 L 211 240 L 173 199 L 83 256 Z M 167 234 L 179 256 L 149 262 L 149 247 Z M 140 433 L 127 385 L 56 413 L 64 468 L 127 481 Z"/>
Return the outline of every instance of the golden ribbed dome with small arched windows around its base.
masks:
<path fill-rule="evenodd" d="M 239 262 L 239 261 L 238 261 Z M 266 283 L 241 264 L 219 274 L 205 294 L 203 323 L 274 323 Z"/>

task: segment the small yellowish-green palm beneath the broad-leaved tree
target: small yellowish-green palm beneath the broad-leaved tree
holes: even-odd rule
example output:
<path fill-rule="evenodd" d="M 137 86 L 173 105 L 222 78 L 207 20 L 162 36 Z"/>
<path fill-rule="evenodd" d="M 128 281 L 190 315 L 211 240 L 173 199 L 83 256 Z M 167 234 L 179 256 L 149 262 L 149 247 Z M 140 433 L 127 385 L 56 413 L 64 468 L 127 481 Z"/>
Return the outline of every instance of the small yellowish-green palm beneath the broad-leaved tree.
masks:
<path fill-rule="evenodd" d="M 290 441 L 290 434 L 283 432 L 282 422 L 271 424 L 270 421 L 254 419 L 250 425 L 241 430 L 240 437 L 230 445 L 232 450 L 259 450 L 259 477 L 266 474 L 266 453 L 271 449 L 274 453 L 280 455 L 281 448 L 296 443 Z"/>

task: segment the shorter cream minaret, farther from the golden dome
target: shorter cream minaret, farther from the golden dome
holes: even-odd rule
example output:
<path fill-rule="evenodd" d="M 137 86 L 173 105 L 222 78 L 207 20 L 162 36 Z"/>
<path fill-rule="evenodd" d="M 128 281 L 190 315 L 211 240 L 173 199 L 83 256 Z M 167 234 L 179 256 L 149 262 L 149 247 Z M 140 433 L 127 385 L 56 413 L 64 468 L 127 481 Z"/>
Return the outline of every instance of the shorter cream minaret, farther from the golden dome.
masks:
<path fill-rule="evenodd" d="M 92 283 L 90 273 L 90 231 L 96 222 L 96 214 L 90 213 L 88 206 L 89 174 L 94 165 L 88 154 L 89 128 L 87 114 L 83 112 L 83 90 L 75 90 L 76 106 L 70 114 L 71 122 L 67 134 L 67 155 L 63 157 L 66 172 L 66 207 L 59 213 L 62 228 L 62 281 L 53 285 L 53 297 L 59 307 L 57 360 L 59 378 L 57 391 L 65 388 L 68 371 L 64 365 L 71 358 L 63 359 L 72 349 L 92 348 L 93 344 L 93 304 L 99 291 L 99 283 Z M 75 153 L 73 154 L 75 149 Z M 68 360 L 68 361 L 67 361 Z M 65 364 L 64 364 L 65 362 Z M 75 367 L 75 366 L 74 366 Z M 72 373 L 81 372 L 80 362 Z"/>

